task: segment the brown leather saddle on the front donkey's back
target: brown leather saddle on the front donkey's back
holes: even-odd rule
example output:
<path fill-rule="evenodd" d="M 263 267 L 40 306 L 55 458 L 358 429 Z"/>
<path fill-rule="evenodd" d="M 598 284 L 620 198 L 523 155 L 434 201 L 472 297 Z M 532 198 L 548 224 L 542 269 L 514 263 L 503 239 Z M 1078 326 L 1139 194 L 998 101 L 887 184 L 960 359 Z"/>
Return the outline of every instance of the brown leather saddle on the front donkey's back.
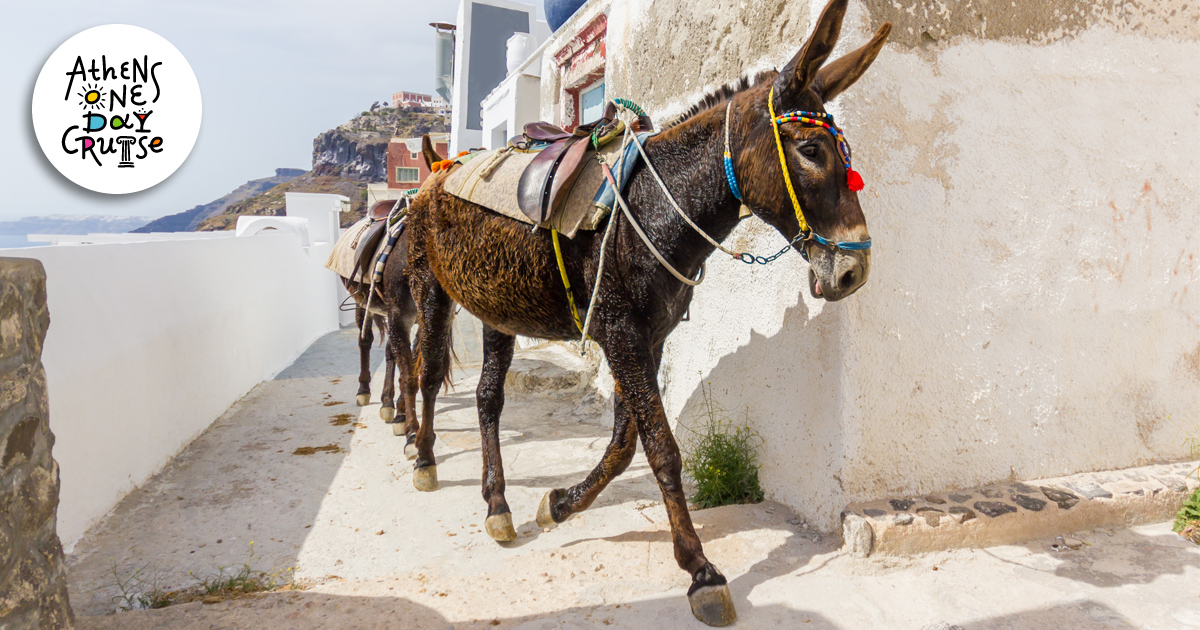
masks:
<path fill-rule="evenodd" d="M 534 223 L 545 223 L 571 191 L 571 185 L 587 163 L 592 134 L 602 137 L 619 124 L 617 106 L 608 103 L 600 120 L 564 131 L 550 122 L 529 122 L 523 136 L 509 140 L 510 146 L 547 144 L 521 173 L 517 182 L 517 206 Z M 640 116 L 634 131 L 652 128 L 649 118 Z"/>

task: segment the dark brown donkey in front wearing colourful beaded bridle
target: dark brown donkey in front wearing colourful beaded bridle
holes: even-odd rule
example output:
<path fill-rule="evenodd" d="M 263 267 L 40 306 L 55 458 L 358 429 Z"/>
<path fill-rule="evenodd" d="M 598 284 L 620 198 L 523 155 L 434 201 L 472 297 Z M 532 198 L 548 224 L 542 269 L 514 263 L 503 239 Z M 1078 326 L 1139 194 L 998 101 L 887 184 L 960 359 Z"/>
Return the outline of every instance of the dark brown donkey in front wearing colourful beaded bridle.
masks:
<path fill-rule="evenodd" d="M 857 174 L 850 169 L 848 145 L 824 114 L 823 103 L 866 72 L 890 24 L 862 48 L 822 67 L 845 11 L 846 0 L 830 0 L 812 35 L 782 71 L 764 72 L 707 96 L 646 140 L 649 164 L 642 161 L 635 167 L 625 192 L 630 212 L 614 210 L 607 218 L 618 224 L 602 272 L 598 260 L 605 226 L 564 240 L 562 247 L 575 304 L 587 305 L 599 283 L 589 332 L 604 349 L 616 382 L 614 426 L 595 469 L 570 488 L 547 492 L 536 522 L 551 527 L 586 510 L 625 470 L 641 439 L 670 517 L 676 562 L 691 575 L 692 613 L 709 625 L 730 624 L 737 614 L 725 577 L 704 557 L 692 528 L 680 482 L 679 448 L 656 379 L 664 341 L 692 296 L 695 281 L 682 282 L 676 274 L 697 277 L 715 244 L 744 216 L 744 204 L 810 262 L 808 288 L 814 298 L 836 301 L 866 282 L 870 240 L 853 185 Z M 775 118 L 772 110 L 784 115 Z M 725 155 L 731 156 L 728 169 Z M 661 176 L 661 186 L 649 173 L 650 166 Z M 493 539 L 509 541 L 516 533 L 504 498 L 499 416 L 514 337 L 578 338 L 577 313 L 569 306 L 551 234 L 530 232 L 526 224 L 451 196 L 443 190 L 445 176 L 445 172 L 433 175 L 409 211 L 408 275 L 426 358 L 413 484 L 421 491 L 438 487 L 433 410 L 446 368 L 442 358 L 451 306 L 457 302 L 485 325 L 476 407 L 486 529 Z M 672 208 L 671 194 L 678 209 Z M 629 216 L 641 226 L 644 241 Z M 676 271 L 668 272 L 647 242 Z"/>

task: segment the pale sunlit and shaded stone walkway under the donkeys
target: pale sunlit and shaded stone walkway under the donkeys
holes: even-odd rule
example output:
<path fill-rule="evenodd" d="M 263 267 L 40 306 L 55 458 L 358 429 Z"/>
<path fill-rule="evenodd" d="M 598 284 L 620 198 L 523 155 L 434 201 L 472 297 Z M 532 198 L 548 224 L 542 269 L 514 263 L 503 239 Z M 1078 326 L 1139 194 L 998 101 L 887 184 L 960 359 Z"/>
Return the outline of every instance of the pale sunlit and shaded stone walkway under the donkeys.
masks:
<path fill-rule="evenodd" d="M 522 372 L 540 371 L 526 383 L 575 378 L 545 365 L 553 352 L 524 356 Z M 518 538 L 500 546 L 482 532 L 478 368 L 439 397 L 442 486 L 419 493 L 378 404 L 354 406 L 355 365 L 353 331 L 325 337 L 89 530 L 67 559 L 77 628 L 702 628 L 642 455 L 587 512 L 532 523 L 545 491 L 582 479 L 608 440 L 587 396 L 510 390 L 502 443 Z M 692 517 L 739 628 L 1200 628 L 1200 547 L 1168 523 L 1061 532 L 1073 546 L 860 558 L 770 502 Z M 295 568 L 305 589 L 112 612 L 115 576 L 144 568 L 178 588 L 247 559 Z"/>

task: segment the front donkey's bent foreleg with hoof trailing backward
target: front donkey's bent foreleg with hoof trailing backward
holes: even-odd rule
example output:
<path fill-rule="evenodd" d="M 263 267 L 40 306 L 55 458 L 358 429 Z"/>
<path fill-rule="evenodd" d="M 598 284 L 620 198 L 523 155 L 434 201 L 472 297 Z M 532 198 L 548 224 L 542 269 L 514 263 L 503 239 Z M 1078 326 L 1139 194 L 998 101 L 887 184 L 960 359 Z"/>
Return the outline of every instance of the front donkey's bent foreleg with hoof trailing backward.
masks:
<path fill-rule="evenodd" d="M 538 506 L 538 527 L 552 527 L 568 520 L 572 514 L 587 510 L 608 482 L 624 473 L 629 462 L 634 461 L 634 452 L 637 450 L 637 424 L 634 422 L 629 404 L 619 392 L 613 401 L 613 416 L 612 440 L 608 442 L 600 463 L 580 484 L 566 490 L 551 490 L 541 498 L 541 504 Z"/>

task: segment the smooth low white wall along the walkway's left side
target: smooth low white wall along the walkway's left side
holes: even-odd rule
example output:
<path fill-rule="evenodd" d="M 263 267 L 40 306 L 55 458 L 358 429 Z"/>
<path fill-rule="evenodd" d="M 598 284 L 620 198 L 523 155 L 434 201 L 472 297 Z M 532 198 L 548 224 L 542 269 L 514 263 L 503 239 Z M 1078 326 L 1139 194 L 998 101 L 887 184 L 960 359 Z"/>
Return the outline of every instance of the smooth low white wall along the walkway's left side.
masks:
<path fill-rule="evenodd" d="M 295 234 L 10 250 L 46 266 L 59 536 L 86 528 L 337 328 L 328 244 Z"/>

